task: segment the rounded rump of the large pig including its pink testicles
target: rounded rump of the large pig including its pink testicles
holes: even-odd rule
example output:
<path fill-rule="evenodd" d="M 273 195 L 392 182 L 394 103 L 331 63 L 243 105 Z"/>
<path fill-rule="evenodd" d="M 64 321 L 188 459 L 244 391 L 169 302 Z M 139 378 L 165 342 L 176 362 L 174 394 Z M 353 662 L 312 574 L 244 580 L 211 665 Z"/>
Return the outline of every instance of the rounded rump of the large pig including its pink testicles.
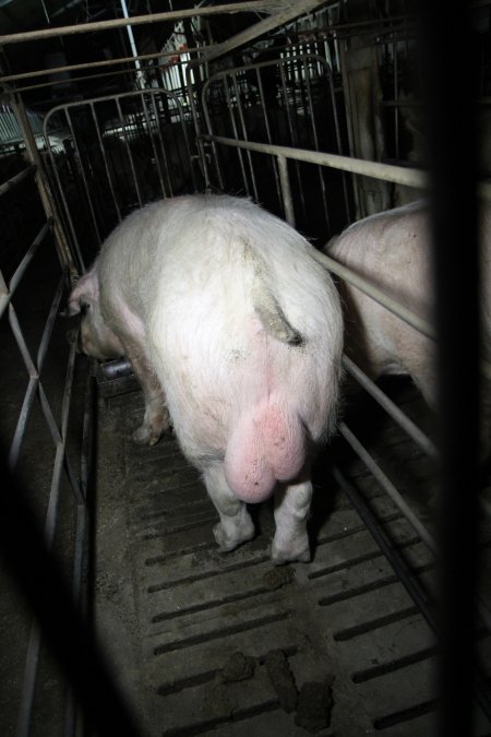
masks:
<path fill-rule="evenodd" d="M 211 215 L 200 242 L 184 228 L 161 269 L 161 284 L 178 288 L 163 287 L 149 331 L 184 453 L 199 467 L 225 461 L 231 490 L 251 502 L 296 479 L 332 427 L 342 330 L 332 283 L 303 239 L 263 219 L 242 230 L 235 213 Z M 258 311 L 268 300 L 295 340 L 272 334 Z"/>

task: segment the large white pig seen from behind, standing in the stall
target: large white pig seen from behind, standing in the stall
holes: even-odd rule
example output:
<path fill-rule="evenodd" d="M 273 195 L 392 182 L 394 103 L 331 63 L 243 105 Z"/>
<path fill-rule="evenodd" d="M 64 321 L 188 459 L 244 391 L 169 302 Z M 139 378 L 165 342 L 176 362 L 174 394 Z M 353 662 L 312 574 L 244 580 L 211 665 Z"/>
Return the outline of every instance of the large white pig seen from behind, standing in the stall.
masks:
<path fill-rule="evenodd" d="M 275 562 L 310 559 L 310 464 L 336 419 L 343 318 L 313 251 L 249 200 L 184 195 L 130 215 L 70 298 L 91 305 L 83 349 L 133 364 L 149 442 L 166 402 L 221 550 L 253 536 L 246 503 L 275 492 Z"/>

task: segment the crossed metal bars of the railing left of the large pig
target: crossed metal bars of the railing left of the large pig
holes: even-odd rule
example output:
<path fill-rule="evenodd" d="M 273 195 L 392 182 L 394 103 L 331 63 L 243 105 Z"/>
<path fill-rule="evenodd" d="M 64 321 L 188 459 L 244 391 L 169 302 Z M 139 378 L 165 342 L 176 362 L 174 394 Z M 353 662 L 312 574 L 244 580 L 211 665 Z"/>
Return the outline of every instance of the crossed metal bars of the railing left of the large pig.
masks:
<path fill-rule="evenodd" d="M 33 174 L 35 167 L 28 167 L 25 171 L 14 177 L 8 186 L 0 187 L 0 195 L 12 193 L 12 190 L 26 177 Z M 48 258 L 49 255 L 49 258 Z M 61 504 L 67 502 L 71 504 L 70 514 L 74 521 L 74 537 L 67 543 L 67 552 L 63 558 L 65 564 L 72 569 L 71 597 L 76 607 L 81 606 L 83 601 L 83 571 L 85 566 L 85 546 L 87 530 L 87 482 L 88 482 L 88 448 L 91 444 L 92 419 L 89 416 L 91 402 L 87 402 L 83 428 L 80 428 L 81 438 L 79 445 L 71 439 L 75 428 L 70 426 L 73 405 L 76 397 L 73 396 L 75 384 L 75 350 L 69 347 L 64 341 L 65 348 L 65 375 L 61 385 L 46 388 L 46 359 L 48 352 L 52 350 L 52 344 L 60 331 L 60 324 L 57 323 L 57 317 L 65 286 L 68 275 L 64 268 L 59 266 L 59 277 L 51 284 L 50 280 L 45 283 L 36 278 L 36 264 L 39 261 L 47 260 L 51 262 L 56 249 L 53 247 L 52 221 L 47 219 L 39 226 L 38 233 L 32 243 L 26 249 L 24 255 L 19 255 L 19 264 L 10 278 L 3 275 L 0 269 L 0 320 L 9 325 L 10 335 L 13 342 L 10 347 L 4 343 L 2 348 L 2 385 L 4 396 L 8 394 L 11 402 L 17 402 L 20 408 L 15 419 L 13 409 L 5 409 L 2 416 L 3 431 L 2 436 L 8 442 L 8 468 L 14 478 L 19 472 L 24 487 L 24 494 L 19 492 L 16 503 L 22 507 L 24 501 L 24 512 L 27 518 L 29 514 L 29 502 L 27 501 L 26 490 L 34 492 L 36 504 L 39 504 L 44 512 L 43 540 L 48 551 L 53 551 L 55 536 L 59 528 L 59 510 Z M 43 273 L 43 270 L 41 270 Z M 48 301 L 47 314 L 43 318 L 40 326 L 40 338 L 37 347 L 33 347 L 31 333 L 33 330 L 33 318 L 19 313 L 17 293 L 22 289 L 33 289 L 33 284 L 39 286 Z M 34 289 L 36 295 L 39 289 Z M 20 297 L 25 305 L 25 293 Z M 5 332 L 3 331 L 5 341 Z M 20 375 L 17 369 L 17 359 L 13 355 L 19 352 L 22 357 L 22 364 L 25 369 L 25 385 L 20 385 Z M 61 359 L 61 354 L 58 352 Z M 87 391 L 91 391 L 91 380 L 87 383 Z M 12 406 L 12 405 L 9 405 Z M 88 413 L 88 414 L 87 414 Z M 34 419 L 36 415 L 36 419 Z M 9 428 L 13 428 L 9 438 Z M 24 448 L 28 447 L 28 473 L 26 473 L 26 456 Z M 37 452 L 33 454 L 33 445 Z M 73 462 L 73 457 L 75 462 Z M 4 494 L 10 494 L 5 490 Z M 17 520 L 19 522 L 20 519 Z M 10 521 L 14 524 L 14 520 Z M 22 542 L 22 534 L 19 533 L 19 543 Z M 27 551 L 20 545 L 15 554 L 15 560 L 8 559 L 9 564 L 14 570 L 20 566 L 20 558 L 27 556 Z M 57 557 L 60 552 L 57 552 Z M 12 647 L 21 646 L 22 643 L 13 642 Z M 17 735 L 28 735 L 32 725 L 33 714 L 35 712 L 36 685 L 39 676 L 41 633 L 36 621 L 31 626 L 29 640 L 26 651 L 24 678 L 22 686 L 22 699 L 19 713 Z M 74 708 L 71 699 L 65 704 L 65 714 L 69 721 L 74 718 Z M 70 715 L 70 716 L 69 716 Z"/>

